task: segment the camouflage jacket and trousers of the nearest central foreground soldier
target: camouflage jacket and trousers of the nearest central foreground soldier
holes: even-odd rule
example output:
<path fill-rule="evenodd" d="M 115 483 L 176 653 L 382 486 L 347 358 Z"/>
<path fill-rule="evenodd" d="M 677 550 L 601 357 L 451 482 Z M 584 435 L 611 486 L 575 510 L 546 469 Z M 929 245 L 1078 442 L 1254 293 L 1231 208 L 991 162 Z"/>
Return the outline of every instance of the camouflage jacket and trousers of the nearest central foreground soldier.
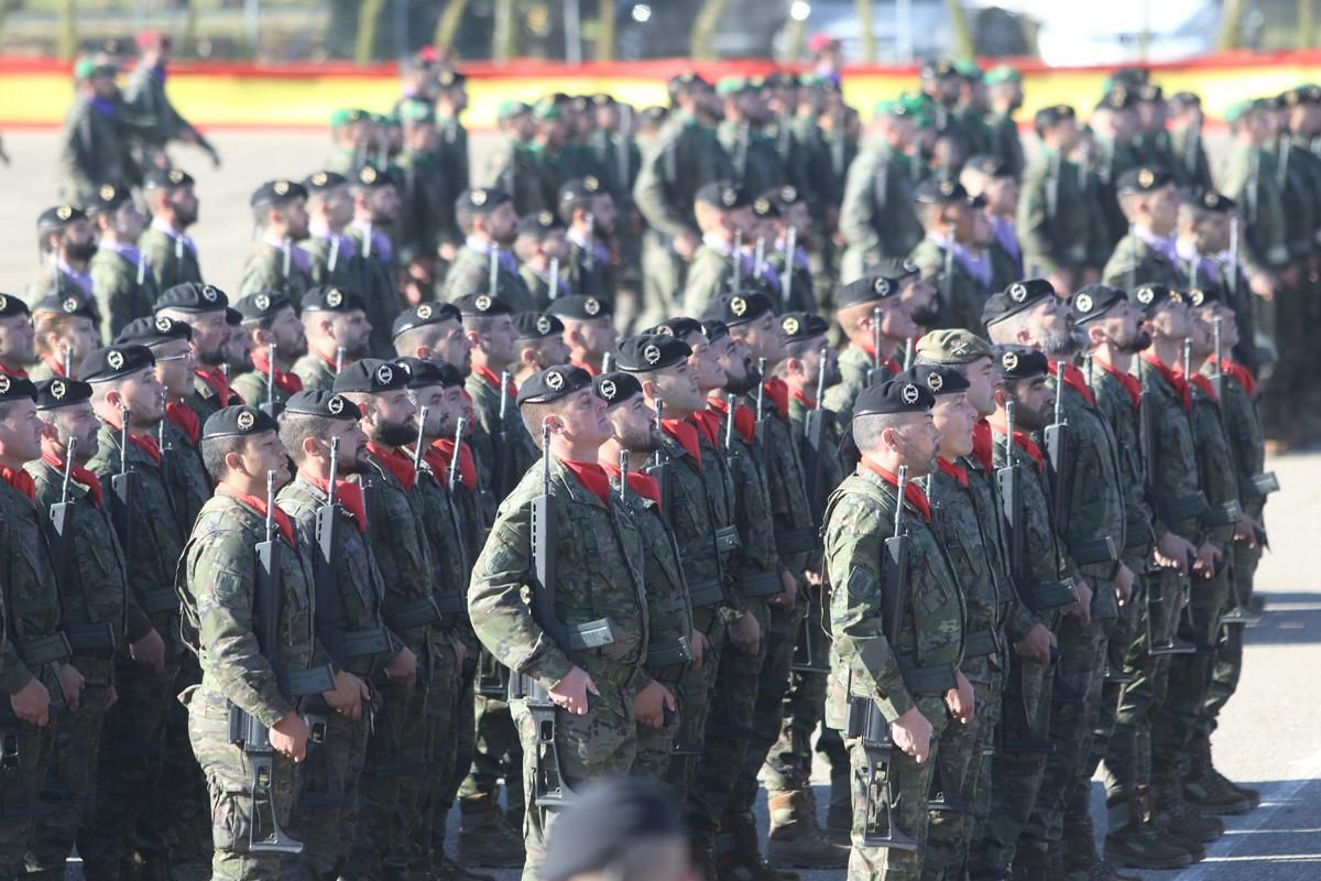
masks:
<path fill-rule="evenodd" d="M 534 678 L 546 688 L 575 666 L 596 682 L 600 696 L 594 709 L 584 716 L 553 711 L 563 782 L 577 787 L 601 777 L 626 774 L 633 766 L 637 750 L 633 695 L 649 642 L 642 539 L 627 512 L 601 502 L 568 468 L 552 462 L 551 495 L 556 502 L 557 530 L 555 612 L 571 630 L 604 617 L 614 631 L 613 642 L 605 646 L 565 652 L 546 638 L 523 600 L 532 569 L 531 499 L 540 489 L 542 476 L 534 469 L 501 505 L 473 569 L 468 608 L 482 645 L 510 670 Z M 539 744 L 526 701 L 513 701 L 513 712 L 523 744 L 527 793 L 523 877 L 531 881 L 544 855 L 555 811 L 536 803 Z"/>

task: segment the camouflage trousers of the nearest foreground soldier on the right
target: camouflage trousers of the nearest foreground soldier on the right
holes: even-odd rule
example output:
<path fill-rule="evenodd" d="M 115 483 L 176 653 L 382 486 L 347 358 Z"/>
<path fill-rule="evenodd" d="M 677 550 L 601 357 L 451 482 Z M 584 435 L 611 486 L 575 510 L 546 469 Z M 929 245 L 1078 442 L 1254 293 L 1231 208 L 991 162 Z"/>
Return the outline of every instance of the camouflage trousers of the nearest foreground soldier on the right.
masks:
<path fill-rule="evenodd" d="M 889 811 L 880 807 L 884 804 L 884 790 L 880 779 L 868 775 L 863 741 L 847 741 L 853 793 L 853 849 L 848 855 L 848 881 L 917 881 L 922 877 L 922 860 L 927 853 L 927 795 L 948 713 L 945 700 L 935 696 L 918 696 L 917 708 L 931 722 L 931 756 L 918 765 L 906 753 L 893 750 L 889 769 L 882 771 L 889 774 L 890 796 L 894 799 Z M 893 823 L 894 828 L 917 841 L 917 849 L 865 844 L 869 804 L 872 812 L 878 815 L 877 826 L 882 835 L 888 823 Z"/>

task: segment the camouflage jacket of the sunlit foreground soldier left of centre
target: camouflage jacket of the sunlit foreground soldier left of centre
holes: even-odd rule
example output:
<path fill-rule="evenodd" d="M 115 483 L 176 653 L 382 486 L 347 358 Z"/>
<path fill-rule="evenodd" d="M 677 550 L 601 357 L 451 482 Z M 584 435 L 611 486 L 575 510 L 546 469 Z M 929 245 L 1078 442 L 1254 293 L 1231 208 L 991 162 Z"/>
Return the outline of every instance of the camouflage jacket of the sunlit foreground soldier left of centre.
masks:
<path fill-rule="evenodd" d="M 178 593 L 194 630 L 202 691 L 230 700 L 263 725 L 295 712 L 297 696 L 281 686 L 254 633 L 256 546 L 266 540 L 266 518 L 232 495 L 206 503 L 178 565 Z M 295 672 L 325 663 L 312 629 L 312 564 L 275 532 L 280 552 L 277 666 Z M 326 668 L 326 675 L 330 675 Z"/>

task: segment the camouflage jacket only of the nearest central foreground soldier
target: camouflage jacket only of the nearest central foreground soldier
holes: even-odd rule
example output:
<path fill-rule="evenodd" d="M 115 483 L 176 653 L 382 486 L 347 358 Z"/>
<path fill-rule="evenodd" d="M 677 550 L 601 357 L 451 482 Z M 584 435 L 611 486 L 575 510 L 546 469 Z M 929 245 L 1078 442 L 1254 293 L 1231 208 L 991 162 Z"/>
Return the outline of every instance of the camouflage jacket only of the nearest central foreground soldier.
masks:
<path fill-rule="evenodd" d="M 559 646 L 528 605 L 531 503 L 540 491 L 540 470 L 528 470 L 495 514 L 468 592 L 477 637 L 497 660 L 546 688 L 577 666 L 597 683 L 631 689 L 649 643 L 642 535 L 629 511 L 602 502 L 561 462 L 551 464 L 555 614 L 569 631 L 601 618 L 613 631 L 613 639 L 598 647 Z"/>

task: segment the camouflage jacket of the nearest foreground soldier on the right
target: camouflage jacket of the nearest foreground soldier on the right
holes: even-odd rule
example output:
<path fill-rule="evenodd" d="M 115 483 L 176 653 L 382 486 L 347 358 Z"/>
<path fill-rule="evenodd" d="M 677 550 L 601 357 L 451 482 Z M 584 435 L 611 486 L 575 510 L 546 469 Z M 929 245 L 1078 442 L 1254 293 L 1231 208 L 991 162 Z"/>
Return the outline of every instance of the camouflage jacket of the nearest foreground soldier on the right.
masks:
<path fill-rule="evenodd" d="M 826 573 L 831 585 L 831 686 L 826 722 L 841 728 L 845 697 L 875 700 L 886 721 L 915 705 L 917 693 L 942 695 L 955 686 L 963 660 L 963 597 L 931 523 L 904 502 L 909 535 L 906 602 L 885 635 L 881 585 L 885 539 L 893 535 L 896 487 L 867 465 L 844 478 L 826 509 Z M 921 691 L 913 672 L 922 675 Z"/>

